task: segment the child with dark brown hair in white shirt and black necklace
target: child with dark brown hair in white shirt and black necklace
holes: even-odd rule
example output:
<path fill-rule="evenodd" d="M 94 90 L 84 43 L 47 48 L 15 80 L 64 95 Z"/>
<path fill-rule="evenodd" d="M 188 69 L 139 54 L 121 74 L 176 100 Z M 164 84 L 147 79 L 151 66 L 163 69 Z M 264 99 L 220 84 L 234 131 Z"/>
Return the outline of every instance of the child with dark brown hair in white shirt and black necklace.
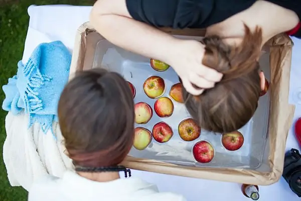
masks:
<path fill-rule="evenodd" d="M 139 178 L 120 178 L 119 166 L 133 144 L 134 110 L 127 82 L 115 72 L 92 69 L 78 73 L 64 88 L 58 106 L 59 125 L 75 172 L 48 175 L 35 182 L 29 200 L 173 200 Z"/>

